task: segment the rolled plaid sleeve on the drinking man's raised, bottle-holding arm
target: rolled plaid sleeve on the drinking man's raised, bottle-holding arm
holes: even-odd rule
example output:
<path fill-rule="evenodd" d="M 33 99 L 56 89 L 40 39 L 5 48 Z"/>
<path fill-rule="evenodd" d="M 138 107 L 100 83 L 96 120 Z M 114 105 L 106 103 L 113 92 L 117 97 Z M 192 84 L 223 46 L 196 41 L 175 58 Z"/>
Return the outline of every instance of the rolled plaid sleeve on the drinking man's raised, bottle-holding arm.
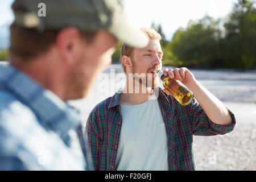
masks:
<path fill-rule="evenodd" d="M 224 135 L 234 130 L 234 126 L 236 125 L 236 118 L 228 108 L 226 109 L 228 110 L 230 117 L 232 118 L 232 123 L 230 125 L 219 125 L 210 121 L 203 107 L 199 105 L 199 102 L 195 98 L 191 102 L 191 104 L 185 107 L 188 117 L 191 121 L 193 135 Z"/>

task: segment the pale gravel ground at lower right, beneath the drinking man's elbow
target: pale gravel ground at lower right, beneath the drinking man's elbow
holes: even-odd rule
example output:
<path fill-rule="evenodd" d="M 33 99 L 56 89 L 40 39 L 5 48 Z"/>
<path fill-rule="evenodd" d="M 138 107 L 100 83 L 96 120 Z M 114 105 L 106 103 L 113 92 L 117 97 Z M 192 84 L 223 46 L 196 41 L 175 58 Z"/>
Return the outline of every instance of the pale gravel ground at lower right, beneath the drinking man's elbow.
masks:
<path fill-rule="evenodd" d="M 224 102 L 237 119 L 225 135 L 193 137 L 197 170 L 256 170 L 256 105 Z"/>

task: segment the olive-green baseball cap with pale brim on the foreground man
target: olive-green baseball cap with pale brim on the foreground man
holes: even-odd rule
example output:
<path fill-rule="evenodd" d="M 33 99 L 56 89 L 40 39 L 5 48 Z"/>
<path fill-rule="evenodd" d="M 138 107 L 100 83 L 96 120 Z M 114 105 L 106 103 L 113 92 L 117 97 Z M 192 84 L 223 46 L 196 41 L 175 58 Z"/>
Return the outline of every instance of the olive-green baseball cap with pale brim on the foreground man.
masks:
<path fill-rule="evenodd" d="M 38 31 L 65 27 L 106 30 L 137 48 L 146 47 L 149 41 L 142 30 L 129 23 L 122 0 L 15 0 L 13 10 L 15 23 Z"/>

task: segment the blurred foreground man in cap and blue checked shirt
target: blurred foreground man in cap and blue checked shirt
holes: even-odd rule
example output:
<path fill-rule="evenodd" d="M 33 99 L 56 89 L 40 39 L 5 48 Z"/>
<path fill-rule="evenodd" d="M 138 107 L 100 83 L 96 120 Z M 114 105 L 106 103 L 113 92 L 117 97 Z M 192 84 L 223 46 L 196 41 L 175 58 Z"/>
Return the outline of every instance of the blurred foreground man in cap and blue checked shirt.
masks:
<path fill-rule="evenodd" d="M 144 47 L 147 36 L 127 23 L 122 1 L 17 0 L 12 8 L 10 65 L 0 67 L 0 170 L 92 169 L 80 114 L 66 101 L 86 96 L 118 39 Z"/>

